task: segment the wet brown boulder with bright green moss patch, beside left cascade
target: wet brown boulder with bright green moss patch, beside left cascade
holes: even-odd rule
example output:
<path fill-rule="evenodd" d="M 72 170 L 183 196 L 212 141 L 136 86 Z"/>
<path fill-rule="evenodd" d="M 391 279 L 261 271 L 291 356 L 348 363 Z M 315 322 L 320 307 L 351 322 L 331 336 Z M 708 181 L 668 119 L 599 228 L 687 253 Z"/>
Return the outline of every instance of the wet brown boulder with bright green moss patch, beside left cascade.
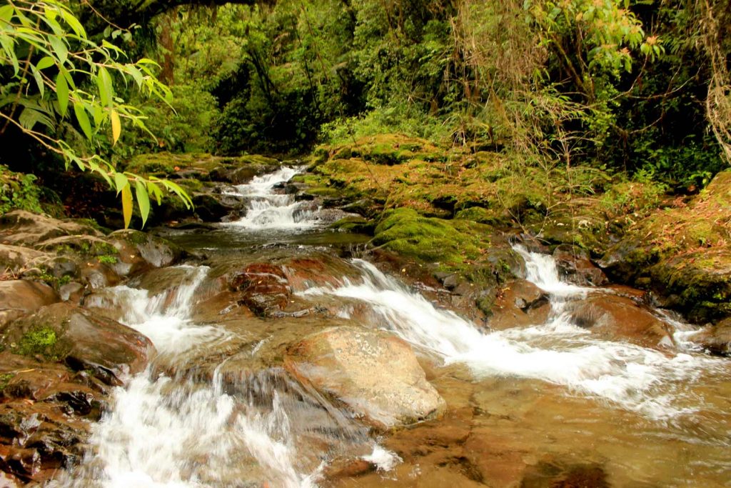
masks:
<path fill-rule="evenodd" d="M 7 326 L 2 342 L 13 353 L 91 369 L 110 385 L 145 369 L 154 353 L 150 339 L 114 320 L 62 302 Z"/>

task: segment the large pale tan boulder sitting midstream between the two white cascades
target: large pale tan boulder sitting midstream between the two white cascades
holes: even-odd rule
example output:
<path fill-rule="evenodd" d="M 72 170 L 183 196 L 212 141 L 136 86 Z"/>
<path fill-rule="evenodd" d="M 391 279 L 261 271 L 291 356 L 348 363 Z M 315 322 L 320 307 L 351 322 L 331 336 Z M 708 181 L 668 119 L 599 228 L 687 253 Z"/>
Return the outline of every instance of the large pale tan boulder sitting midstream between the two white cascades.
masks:
<path fill-rule="evenodd" d="M 384 331 L 343 326 L 311 334 L 287 350 L 284 366 L 379 429 L 431 418 L 446 406 L 412 348 Z"/>

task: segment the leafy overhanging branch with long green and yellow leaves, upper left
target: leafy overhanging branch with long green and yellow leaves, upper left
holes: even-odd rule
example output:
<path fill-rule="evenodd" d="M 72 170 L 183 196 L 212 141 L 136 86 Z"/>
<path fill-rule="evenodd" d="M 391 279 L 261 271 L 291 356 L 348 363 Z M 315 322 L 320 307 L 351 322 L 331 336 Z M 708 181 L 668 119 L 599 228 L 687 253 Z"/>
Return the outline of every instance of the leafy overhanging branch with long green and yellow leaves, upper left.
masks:
<path fill-rule="evenodd" d="M 12 126 L 63 157 L 67 168 L 98 173 L 121 195 L 125 225 L 132 217 L 133 193 L 143 223 L 148 194 L 159 200 L 161 187 L 191 204 L 174 183 L 118 173 L 110 162 L 91 154 L 101 141 L 112 146 L 118 141 L 123 121 L 146 130 L 143 113 L 119 97 L 115 79 L 133 83 L 148 97 L 170 97 L 154 75 L 154 61 L 118 61 L 124 51 L 107 40 L 91 40 L 67 5 L 57 0 L 12 0 L 0 7 L 0 46 L 0 135 Z M 86 145 L 80 143 L 83 139 Z"/>

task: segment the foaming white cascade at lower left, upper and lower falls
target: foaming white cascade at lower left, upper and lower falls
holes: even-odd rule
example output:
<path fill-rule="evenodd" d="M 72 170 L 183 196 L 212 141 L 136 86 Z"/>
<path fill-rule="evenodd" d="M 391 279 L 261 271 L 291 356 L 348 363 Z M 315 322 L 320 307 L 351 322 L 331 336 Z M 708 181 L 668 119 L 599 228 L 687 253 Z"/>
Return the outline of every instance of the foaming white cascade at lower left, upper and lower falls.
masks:
<path fill-rule="evenodd" d="M 227 340 L 220 329 L 190 320 L 208 269 L 183 268 L 186 277 L 172 288 L 172 300 L 168 293 L 110 289 L 127 311 L 123 322 L 173 359 L 194 346 Z M 313 487 L 317 470 L 303 474 L 295 468 L 297 449 L 278 392 L 263 389 L 271 394 L 265 408 L 224 392 L 217 372 L 208 383 L 170 378 L 150 367 L 126 388 L 115 388 L 83 464 L 56 486 L 239 487 L 264 481 L 270 487 Z"/>

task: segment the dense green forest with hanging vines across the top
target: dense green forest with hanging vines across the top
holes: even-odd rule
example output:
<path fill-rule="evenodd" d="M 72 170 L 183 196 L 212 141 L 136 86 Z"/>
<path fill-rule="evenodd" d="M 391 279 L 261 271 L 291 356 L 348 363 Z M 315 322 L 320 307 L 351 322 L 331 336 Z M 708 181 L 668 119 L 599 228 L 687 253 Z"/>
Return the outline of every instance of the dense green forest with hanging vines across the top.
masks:
<path fill-rule="evenodd" d="M 728 164 L 724 1 L 2 9 L 0 157 L 22 174 L 155 151 L 303 156 L 387 133 L 675 192 Z"/>

